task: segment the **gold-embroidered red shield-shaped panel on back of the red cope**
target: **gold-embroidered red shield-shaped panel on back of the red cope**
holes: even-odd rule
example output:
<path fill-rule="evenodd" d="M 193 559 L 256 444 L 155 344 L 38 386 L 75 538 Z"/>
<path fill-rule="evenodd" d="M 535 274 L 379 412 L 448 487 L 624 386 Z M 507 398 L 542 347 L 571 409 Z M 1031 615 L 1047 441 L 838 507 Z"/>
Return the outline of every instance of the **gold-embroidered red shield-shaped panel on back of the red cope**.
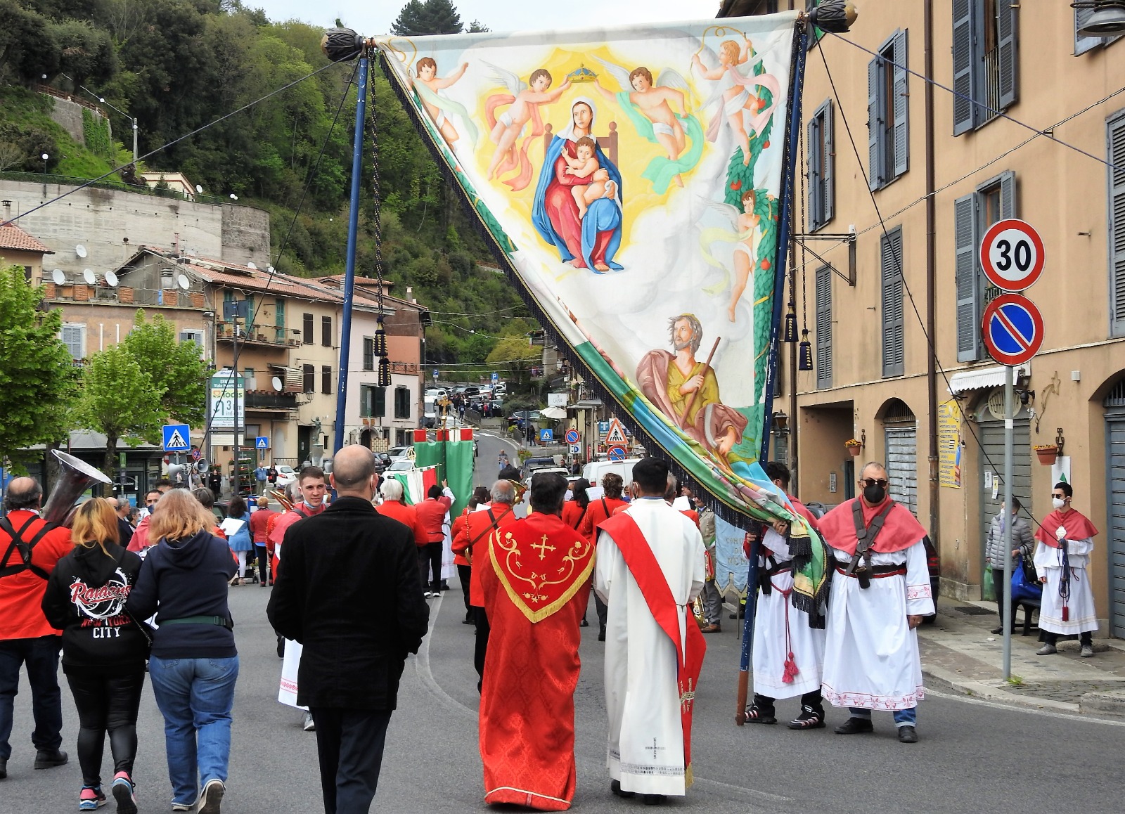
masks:
<path fill-rule="evenodd" d="M 594 544 L 557 515 L 536 513 L 497 528 L 488 557 L 508 599 L 531 623 L 566 605 L 594 570 Z"/>

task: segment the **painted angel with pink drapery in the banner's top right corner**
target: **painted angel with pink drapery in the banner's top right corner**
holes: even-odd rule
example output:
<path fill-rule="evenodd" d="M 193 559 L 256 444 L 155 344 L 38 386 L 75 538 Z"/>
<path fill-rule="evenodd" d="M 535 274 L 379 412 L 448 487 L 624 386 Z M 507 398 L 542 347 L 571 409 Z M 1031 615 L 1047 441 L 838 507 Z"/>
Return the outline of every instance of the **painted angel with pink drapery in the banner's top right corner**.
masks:
<path fill-rule="evenodd" d="M 706 139 L 709 142 L 716 141 L 719 137 L 719 130 L 722 129 L 723 121 L 729 124 L 742 148 L 742 166 L 750 164 L 749 133 L 760 133 L 762 128 L 766 126 L 777 107 L 781 91 L 777 78 L 765 73 L 764 69 L 759 72 L 762 60 L 754 61 L 753 57 L 754 46 L 745 36 L 741 45 L 734 39 L 724 39 L 719 44 L 718 67 L 706 67 L 699 54 L 692 57 L 692 66 L 704 79 L 719 83 L 711 97 L 703 102 L 704 110 L 721 106 L 719 112 L 708 125 Z M 762 90 L 770 91 L 768 102 L 762 98 Z M 746 120 L 747 112 L 750 114 L 749 123 Z M 747 130 L 747 124 L 749 124 L 749 130 Z"/>

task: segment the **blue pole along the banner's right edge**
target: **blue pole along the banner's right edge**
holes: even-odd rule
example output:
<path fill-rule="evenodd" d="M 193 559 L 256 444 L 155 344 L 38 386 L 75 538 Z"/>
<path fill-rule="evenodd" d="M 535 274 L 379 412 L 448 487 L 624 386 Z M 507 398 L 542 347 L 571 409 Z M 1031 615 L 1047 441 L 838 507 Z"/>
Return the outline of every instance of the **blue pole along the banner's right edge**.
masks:
<path fill-rule="evenodd" d="M 792 229 L 790 228 L 789 212 L 793 206 L 793 178 L 796 172 L 796 139 L 800 135 L 801 124 L 801 93 L 804 88 L 804 55 L 809 46 L 809 31 L 802 27 L 796 35 L 796 53 L 793 58 L 793 78 L 790 83 L 790 108 L 789 108 L 789 138 L 785 152 L 784 188 L 782 189 L 781 210 L 778 220 L 781 221 L 777 237 L 777 273 L 774 281 L 774 313 L 773 326 L 770 329 L 770 372 L 766 377 L 766 404 L 765 416 L 762 428 L 762 455 L 765 461 L 770 452 L 770 419 L 773 413 L 773 389 L 777 381 L 777 334 L 781 327 L 781 304 L 785 289 L 785 260 L 789 254 L 789 241 Z M 795 386 L 795 382 L 792 386 Z M 796 420 L 796 416 L 793 417 Z M 742 622 L 742 649 L 739 654 L 739 669 L 746 672 L 750 669 L 750 654 L 754 650 L 754 615 L 757 609 L 758 589 L 758 555 L 762 550 L 762 541 L 755 540 L 750 545 L 750 566 L 746 578 L 746 617 Z"/>

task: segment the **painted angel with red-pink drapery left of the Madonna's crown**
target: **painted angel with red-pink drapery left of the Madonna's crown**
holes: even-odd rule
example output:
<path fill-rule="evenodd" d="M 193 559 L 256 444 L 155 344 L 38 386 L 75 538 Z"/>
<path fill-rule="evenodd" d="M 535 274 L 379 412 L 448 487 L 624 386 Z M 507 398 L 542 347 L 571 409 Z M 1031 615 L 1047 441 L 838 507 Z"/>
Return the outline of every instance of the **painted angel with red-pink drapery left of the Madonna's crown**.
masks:
<path fill-rule="evenodd" d="M 488 180 L 519 170 L 515 178 L 504 182 L 513 192 L 518 192 L 531 182 L 528 148 L 536 137 L 543 135 L 543 119 L 539 115 L 539 107 L 558 101 L 570 87 L 570 80 L 549 91 L 552 80 L 546 67 L 532 71 L 529 81 L 524 82 L 506 69 L 489 62 L 484 64 L 488 67 L 489 78 L 507 89 L 507 93 L 493 93 L 485 100 L 485 116 L 492 129 L 489 138 L 496 145 L 496 152 L 488 164 Z M 496 108 L 504 106 L 508 106 L 507 110 L 496 116 Z M 529 124 L 531 132 L 516 148 L 515 142 L 528 130 Z"/>

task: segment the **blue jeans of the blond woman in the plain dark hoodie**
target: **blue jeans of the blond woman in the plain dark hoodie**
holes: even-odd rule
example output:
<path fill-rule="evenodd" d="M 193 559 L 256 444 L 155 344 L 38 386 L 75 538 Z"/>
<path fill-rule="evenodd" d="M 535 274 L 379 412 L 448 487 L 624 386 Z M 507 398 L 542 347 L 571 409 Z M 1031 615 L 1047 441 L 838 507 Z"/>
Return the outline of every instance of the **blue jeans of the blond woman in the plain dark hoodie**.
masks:
<path fill-rule="evenodd" d="M 190 805 L 208 780 L 226 781 L 231 758 L 231 707 L 238 657 L 148 659 L 156 706 L 164 715 L 164 744 L 172 802 Z"/>

